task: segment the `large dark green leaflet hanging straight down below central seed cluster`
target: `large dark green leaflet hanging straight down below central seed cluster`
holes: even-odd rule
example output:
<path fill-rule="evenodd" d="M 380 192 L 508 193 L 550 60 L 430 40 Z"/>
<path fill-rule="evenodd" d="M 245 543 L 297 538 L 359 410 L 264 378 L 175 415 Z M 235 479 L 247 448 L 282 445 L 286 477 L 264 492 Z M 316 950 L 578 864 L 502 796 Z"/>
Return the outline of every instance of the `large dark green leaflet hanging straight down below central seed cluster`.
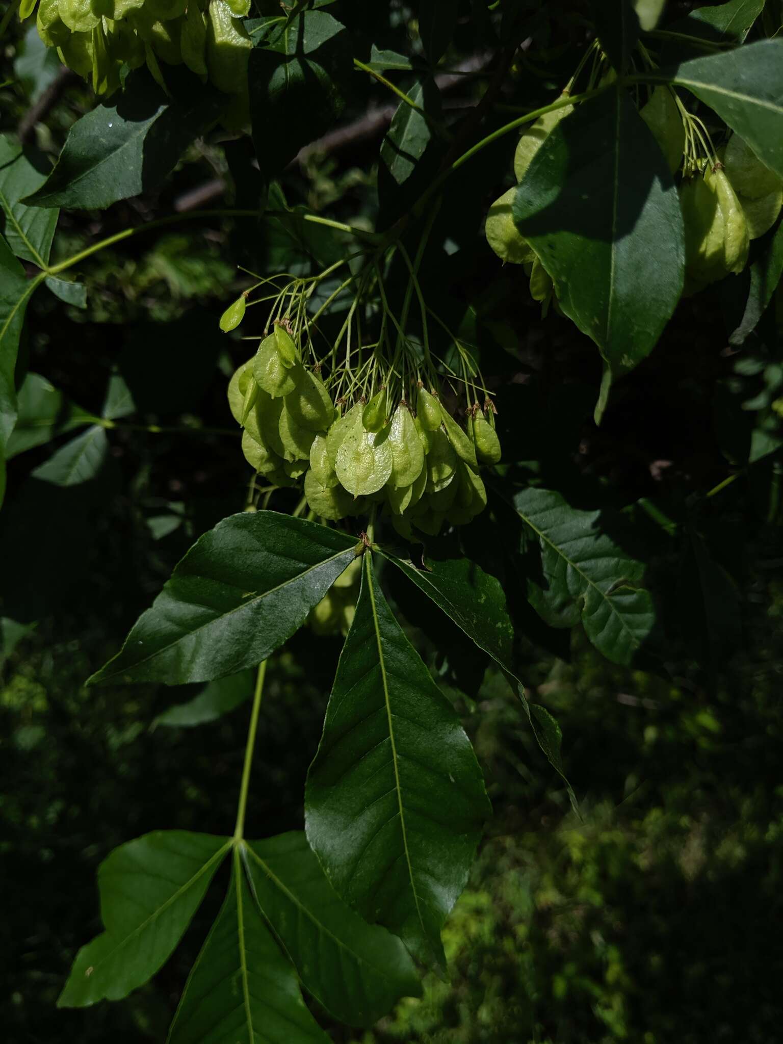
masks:
<path fill-rule="evenodd" d="M 470 740 L 367 557 L 308 775 L 307 838 L 342 899 L 444 968 L 441 929 L 489 812 Z"/>

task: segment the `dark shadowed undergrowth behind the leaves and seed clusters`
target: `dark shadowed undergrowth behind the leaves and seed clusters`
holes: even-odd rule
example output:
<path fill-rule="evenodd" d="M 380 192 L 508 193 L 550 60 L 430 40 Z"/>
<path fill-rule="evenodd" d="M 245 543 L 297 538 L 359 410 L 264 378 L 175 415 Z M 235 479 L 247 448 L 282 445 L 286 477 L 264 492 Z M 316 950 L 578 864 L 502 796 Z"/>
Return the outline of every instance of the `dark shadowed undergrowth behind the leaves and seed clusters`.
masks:
<path fill-rule="evenodd" d="M 487 130 L 511 118 L 505 106 L 544 103 L 573 68 L 579 5 L 547 6 L 543 28 L 527 13 L 533 44 L 484 110 Z M 691 6 L 671 3 L 667 17 Z M 418 46 L 416 11 L 338 7 L 363 25 L 367 47 Z M 461 74 L 441 85 L 449 124 L 469 140 L 462 109 L 476 102 L 473 74 L 494 53 L 479 7 L 460 6 L 447 65 Z M 13 80 L 0 91 L 3 127 L 20 127 L 53 157 L 92 106 L 90 92 L 24 27 L 14 24 L 0 47 L 0 80 Z M 289 164 L 288 200 L 375 222 L 388 120 L 377 113 L 388 104 L 381 85 L 354 74 L 340 124 L 350 133 Z M 743 277 L 685 300 L 651 356 L 615 386 L 597 428 L 594 346 L 568 321 L 542 319 L 521 271 L 501 269 L 484 242 L 487 209 L 511 183 L 513 137 L 449 181 L 422 268 L 427 295 L 479 346 L 497 394 L 504 480 L 538 481 L 575 507 L 600 509 L 618 544 L 645 564 L 659 627 L 633 666 L 620 667 L 580 627 L 548 627 L 519 599 L 523 678 L 563 728 L 579 823 L 503 679 L 387 569 L 388 594 L 464 713 L 495 813 L 447 925 L 451 981 L 428 978 L 422 1001 L 364 1035 L 325 1024 L 336 1041 L 364 1044 L 772 1044 L 783 977 L 781 462 L 770 454 L 733 466 L 780 400 L 780 317 L 773 305 L 739 348 L 729 335 Z M 54 259 L 172 210 L 255 206 L 260 191 L 246 143 L 216 134 L 160 187 L 105 212 L 64 211 Z M 274 221 L 194 216 L 79 265 L 85 310 L 43 292 L 30 305 L 23 364 L 96 413 L 119 375 L 136 412 L 117 421 L 104 465 L 77 488 L 32 474 L 50 444 L 9 468 L 0 518 L 0 1019 L 10 1044 L 163 1040 L 215 914 L 208 899 L 174 958 L 126 1001 L 55 1009 L 76 949 L 99 930 L 99 861 L 148 830 L 223 833 L 233 822 L 246 706 L 170 728 L 157 715 L 195 690 L 84 682 L 192 541 L 244 505 L 247 468 L 226 383 L 247 350 L 217 329 L 250 282 L 236 265 L 323 263 L 331 244 L 319 230 L 302 243 Z M 261 324 L 251 313 L 242 332 Z M 272 506 L 289 509 L 289 500 L 280 494 Z M 465 537 L 488 568 L 499 531 L 487 517 Z M 272 661 L 248 810 L 256 836 L 302 826 L 339 647 L 304 631 Z"/>

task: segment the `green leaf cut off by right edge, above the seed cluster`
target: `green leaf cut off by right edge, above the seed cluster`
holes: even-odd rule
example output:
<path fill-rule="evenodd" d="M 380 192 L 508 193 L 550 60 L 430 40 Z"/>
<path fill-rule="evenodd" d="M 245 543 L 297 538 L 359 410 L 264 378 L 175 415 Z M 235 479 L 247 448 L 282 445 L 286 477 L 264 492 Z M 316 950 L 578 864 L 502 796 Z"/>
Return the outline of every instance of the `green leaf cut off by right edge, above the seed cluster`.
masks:
<path fill-rule="evenodd" d="M 783 40 L 693 58 L 650 78 L 687 87 L 783 177 Z"/>

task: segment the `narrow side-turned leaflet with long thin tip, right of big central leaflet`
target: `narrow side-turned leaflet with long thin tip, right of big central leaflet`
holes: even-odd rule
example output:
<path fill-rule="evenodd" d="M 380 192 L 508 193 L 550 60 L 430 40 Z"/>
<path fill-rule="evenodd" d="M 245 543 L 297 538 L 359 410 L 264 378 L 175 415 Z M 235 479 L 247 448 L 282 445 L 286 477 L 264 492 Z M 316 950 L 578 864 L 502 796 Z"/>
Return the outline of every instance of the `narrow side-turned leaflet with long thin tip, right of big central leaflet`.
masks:
<path fill-rule="evenodd" d="M 480 566 L 465 556 L 437 561 L 428 556 L 426 569 L 418 569 L 412 562 L 398 559 L 388 551 L 380 553 L 402 570 L 408 579 L 502 668 L 508 684 L 519 696 L 539 746 L 566 784 L 571 805 L 578 814 L 576 796 L 568 782 L 561 759 L 560 726 L 543 707 L 528 703 L 524 685 L 519 678 L 514 652 L 514 621 L 497 577 L 485 573 Z"/>

